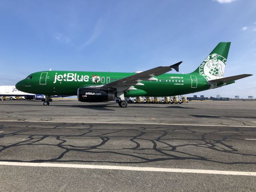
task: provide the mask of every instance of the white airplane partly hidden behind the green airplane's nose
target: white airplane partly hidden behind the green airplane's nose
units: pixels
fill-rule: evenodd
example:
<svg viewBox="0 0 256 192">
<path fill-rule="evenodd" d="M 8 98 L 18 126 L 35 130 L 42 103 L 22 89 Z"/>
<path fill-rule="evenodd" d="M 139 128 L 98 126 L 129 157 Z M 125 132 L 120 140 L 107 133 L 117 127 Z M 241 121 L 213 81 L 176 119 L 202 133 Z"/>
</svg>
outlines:
<svg viewBox="0 0 256 192">
<path fill-rule="evenodd" d="M 44 100 L 44 95 L 38 95 L 38 94 L 31 94 L 31 93 L 25 93 L 22 91 L 19 91 L 15 86 L 0 86 L 0 97 L 3 96 L 24 96 L 28 99 L 34 99 L 34 100 Z"/>
</svg>

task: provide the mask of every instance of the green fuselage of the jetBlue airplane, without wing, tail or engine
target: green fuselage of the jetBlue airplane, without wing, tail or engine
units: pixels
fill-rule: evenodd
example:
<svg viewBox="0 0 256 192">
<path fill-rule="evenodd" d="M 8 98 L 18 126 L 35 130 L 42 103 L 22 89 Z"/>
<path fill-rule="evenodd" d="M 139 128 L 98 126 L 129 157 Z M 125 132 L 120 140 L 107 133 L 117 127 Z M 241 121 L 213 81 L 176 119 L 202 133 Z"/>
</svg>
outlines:
<svg viewBox="0 0 256 192">
<path fill-rule="evenodd" d="M 76 95 L 78 88 L 100 86 L 134 74 L 136 73 L 42 71 L 31 74 L 16 86 L 33 94 Z M 134 86 L 136 90 L 124 92 L 124 96 L 173 96 L 208 90 L 211 87 L 201 75 L 162 74 L 154 77 L 158 80 L 141 81 L 144 85 Z"/>
</svg>

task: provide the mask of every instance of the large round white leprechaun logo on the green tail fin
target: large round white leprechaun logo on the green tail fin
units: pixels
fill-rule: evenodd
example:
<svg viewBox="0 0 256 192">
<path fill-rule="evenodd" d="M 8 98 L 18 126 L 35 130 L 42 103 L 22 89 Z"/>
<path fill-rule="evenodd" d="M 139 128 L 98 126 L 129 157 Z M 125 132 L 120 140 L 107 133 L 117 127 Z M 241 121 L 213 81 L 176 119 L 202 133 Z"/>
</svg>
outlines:
<svg viewBox="0 0 256 192">
<path fill-rule="evenodd" d="M 226 58 L 214 53 L 209 55 L 200 65 L 200 74 L 206 79 L 215 79 L 224 75 Z"/>
</svg>

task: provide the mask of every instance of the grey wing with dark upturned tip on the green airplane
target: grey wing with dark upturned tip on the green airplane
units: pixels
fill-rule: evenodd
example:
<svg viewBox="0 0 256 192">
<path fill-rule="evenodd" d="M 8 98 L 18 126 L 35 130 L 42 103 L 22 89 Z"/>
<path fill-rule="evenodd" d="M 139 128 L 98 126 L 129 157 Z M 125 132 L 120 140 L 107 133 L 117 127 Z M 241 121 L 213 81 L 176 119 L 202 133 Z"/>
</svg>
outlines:
<svg viewBox="0 0 256 192">
<path fill-rule="evenodd" d="M 133 86 L 135 85 L 144 85 L 140 83 L 141 81 L 154 81 L 157 80 L 157 78 L 154 78 L 154 76 L 162 75 L 166 72 L 169 72 L 172 70 L 179 71 L 179 65 L 182 63 L 178 62 L 176 64 L 173 64 L 171 66 L 160 66 L 156 68 L 152 68 L 150 70 L 146 70 L 125 78 L 122 78 L 120 80 L 116 80 L 107 84 L 104 84 L 102 86 L 90 86 L 95 88 L 117 88 L 117 87 L 124 87 L 123 90 L 132 90 L 135 89 Z"/>
</svg>

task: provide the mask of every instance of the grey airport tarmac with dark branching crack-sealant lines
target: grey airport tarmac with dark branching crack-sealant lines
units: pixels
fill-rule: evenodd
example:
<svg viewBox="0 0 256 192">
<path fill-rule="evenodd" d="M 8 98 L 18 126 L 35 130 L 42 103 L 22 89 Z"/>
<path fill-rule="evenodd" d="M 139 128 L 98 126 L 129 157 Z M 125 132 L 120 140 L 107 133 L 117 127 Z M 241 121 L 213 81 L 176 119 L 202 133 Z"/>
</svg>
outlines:
<svg viewBox="0 0 256 192">
<path fill-rule="evenodd" d="M 256 191 L 256 102 L 0 109 L 0 191 Z"/>
</svg>

